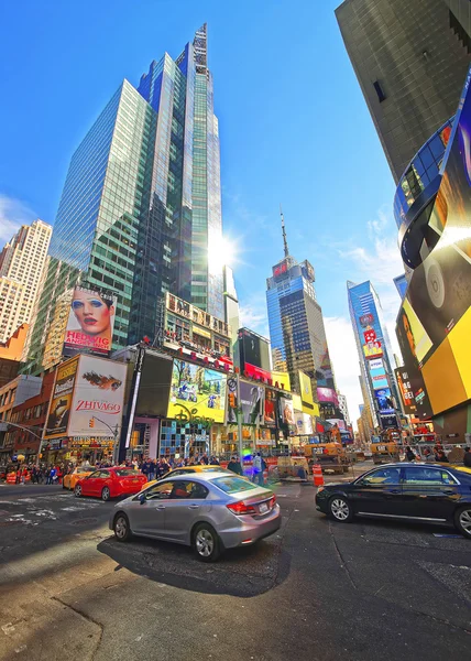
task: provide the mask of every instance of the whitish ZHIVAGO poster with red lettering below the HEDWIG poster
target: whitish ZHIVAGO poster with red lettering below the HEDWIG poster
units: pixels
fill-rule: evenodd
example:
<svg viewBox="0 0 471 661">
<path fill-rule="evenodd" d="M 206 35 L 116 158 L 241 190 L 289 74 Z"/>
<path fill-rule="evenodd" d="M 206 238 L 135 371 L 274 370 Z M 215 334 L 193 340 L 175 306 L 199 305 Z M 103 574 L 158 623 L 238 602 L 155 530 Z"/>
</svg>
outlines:
<svg viewBox="0 0 471 661">
<path fill-rule="evenodd" d="M 124 362 L 78 357 L 68 436 L 110 437 L 121 427 L 125 373 Z"/>
</svg>

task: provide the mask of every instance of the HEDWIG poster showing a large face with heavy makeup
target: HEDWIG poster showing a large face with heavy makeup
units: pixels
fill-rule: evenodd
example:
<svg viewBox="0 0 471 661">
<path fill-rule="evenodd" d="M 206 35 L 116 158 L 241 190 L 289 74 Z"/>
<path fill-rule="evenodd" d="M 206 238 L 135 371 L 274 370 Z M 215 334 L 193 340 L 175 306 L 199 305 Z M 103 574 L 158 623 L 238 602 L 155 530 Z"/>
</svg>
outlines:
<svg viewBox="0 0 471 661">
<path fill-rule="evenodd" d="M 109 356 L 114 327 L 117 299 L 76 286 L 64 338 L 64 355 Z"/>
</svg>

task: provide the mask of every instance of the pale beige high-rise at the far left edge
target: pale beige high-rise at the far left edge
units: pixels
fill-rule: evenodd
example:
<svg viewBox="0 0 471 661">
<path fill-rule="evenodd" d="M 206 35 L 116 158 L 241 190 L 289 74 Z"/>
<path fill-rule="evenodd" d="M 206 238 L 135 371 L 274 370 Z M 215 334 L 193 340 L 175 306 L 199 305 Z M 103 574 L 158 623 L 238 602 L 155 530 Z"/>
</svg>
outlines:
<svg viewBox="0 0 471 661">
<path fill-rule="evenodd" d="M 52 227 L 22 225 L 0 253 L 0 343 L 31 321 L 47 261 Z"/>
</svg>

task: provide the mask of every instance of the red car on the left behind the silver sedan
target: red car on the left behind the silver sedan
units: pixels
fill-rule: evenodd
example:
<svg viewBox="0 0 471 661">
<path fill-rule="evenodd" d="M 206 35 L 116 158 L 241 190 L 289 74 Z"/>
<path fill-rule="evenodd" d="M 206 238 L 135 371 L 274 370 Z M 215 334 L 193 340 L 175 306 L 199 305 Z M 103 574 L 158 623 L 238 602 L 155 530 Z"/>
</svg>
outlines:
<svg viewBox="0 0 471 661">
<path fill-rule="evenodd" d="M 145 485 L 147 478 L 142 473 L 133 468 L 100 468 L 95 470 L 88 477 L 77 481 L 74 494 L 77 498 L 81 496 L 96 496 L 101 500 L 118 498 L 119 496 L 129 496 L 138 494 Z"/>
</svg>

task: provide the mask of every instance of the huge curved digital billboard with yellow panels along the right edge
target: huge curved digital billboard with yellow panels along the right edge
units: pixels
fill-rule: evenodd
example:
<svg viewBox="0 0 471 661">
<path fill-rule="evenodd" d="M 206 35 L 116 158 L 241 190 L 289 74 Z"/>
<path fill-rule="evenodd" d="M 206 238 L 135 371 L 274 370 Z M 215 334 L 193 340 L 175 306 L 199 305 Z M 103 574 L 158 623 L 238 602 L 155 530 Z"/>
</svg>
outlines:
<svg viewBox="0 0 471 661">
<path fill-rule="evenodd" d="M 438 240 L 435 247 L 430 245 L 431 251 L 414 270 L 397 317 L 397 338 L 420 418 L 425 413 L 438 415 L 471 399 L 469 82 L 470 75 L 442 161 L 442 178 L 427 227 L 428 240 L 432 236 Z M 428 407 L 420 403 L 427 399 L 425 389 Z"/>
</svg>

